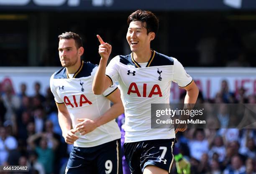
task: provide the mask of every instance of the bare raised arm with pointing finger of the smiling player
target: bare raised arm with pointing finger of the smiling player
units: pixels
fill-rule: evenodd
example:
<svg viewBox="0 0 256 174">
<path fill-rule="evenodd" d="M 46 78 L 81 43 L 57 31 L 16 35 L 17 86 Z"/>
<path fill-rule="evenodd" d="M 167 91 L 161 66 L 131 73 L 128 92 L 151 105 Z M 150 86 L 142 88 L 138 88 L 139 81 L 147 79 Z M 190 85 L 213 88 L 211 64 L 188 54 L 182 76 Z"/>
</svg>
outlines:
<svg viewBox="0 0 256 174">
<path fill-rule="evenodd" d="M 112 85 L 110 78 L 105 76 L 108 58 L 110 56 L 112 47 L 110 44 L 105 43 L 100 37 L 100 35 L 97 35 L 97 38 L 100 41 L 99 54 L 101 58 L 100 58 L 99 68 L 97 68 L 97 72 L 95 74 L 95 77 L 92 83 L 92 91 L 94 94 L 100 95 L 108 87 Z"/>
</svg>

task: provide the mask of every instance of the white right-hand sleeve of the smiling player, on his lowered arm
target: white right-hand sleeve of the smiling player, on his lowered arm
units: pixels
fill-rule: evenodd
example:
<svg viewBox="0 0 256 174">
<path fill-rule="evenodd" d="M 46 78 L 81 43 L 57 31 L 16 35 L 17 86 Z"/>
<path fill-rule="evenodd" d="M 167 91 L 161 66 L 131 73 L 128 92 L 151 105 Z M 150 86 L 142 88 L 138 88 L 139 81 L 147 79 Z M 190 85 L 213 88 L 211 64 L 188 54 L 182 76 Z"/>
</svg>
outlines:
<svg viewBox="0 0 256 174">
<path fill-rule="evenodd" d="M 184 70 L 184 67 L 182 64 L 176 59 L 174 60 L 174 74 L 173 74 L 173 80 L 175 83 L 178 83 L 179 87 L 186 87 L 192 82 L 192 77 L 187 74 L 187 72 Z"/>
</svg>

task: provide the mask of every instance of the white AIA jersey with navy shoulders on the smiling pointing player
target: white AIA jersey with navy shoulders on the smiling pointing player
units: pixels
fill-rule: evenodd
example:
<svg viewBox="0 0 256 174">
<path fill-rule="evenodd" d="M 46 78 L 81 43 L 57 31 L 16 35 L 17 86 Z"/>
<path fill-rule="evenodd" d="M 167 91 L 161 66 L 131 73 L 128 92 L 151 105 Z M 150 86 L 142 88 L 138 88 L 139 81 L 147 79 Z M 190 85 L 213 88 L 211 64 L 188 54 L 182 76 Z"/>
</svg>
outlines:
<svg viewBox="0 0 256 174">
<path fill-rule="evenodd" d="M 151 103 L 169 103 L 172 81 L 181 87 L 192 82 L 176 58 L 152 50 L 146 67 L 141 67 L 132 53 L 118 55 L 108 64 L 106 76 L 120 84 L 126 143 L 175 138 L 174 129 L 151 129 Z"/>
</svg>

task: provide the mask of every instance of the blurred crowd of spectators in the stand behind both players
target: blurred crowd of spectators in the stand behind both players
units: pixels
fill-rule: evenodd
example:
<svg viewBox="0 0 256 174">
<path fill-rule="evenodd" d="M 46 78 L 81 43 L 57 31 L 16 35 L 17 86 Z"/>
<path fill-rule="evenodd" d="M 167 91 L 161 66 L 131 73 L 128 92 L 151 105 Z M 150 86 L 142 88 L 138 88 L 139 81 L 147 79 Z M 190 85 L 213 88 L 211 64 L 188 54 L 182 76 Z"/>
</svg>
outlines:
<svg viewBox="0 0 256 174">
<path fill-rule="evenodd" d="M 20 93 L 11 84 L 2 86 L 0 165 L 27 165 L 30 174 L 64 174 L 72 146 L 61 135 L 50 88 L 46 95 L 40 88 L 35 83 L 34 96 L 28 96 L 26 83 Z M 180 98 L 183 102 L 184 95 Z M 224 80 L 215 98 L 200 93 L 197 102 L 256 104 L 256 95 L 246 95 L 243 88 L 234 93 Z M 227 111 L 219 114 L 218 122 L 228 124 Z M 256 129 L 188 129 L 177 134 L 175 147 L 191 163 L 192 174 L 256 174 Z M 177 173 L 176 167 L 172 173 Z"/>
</svg>

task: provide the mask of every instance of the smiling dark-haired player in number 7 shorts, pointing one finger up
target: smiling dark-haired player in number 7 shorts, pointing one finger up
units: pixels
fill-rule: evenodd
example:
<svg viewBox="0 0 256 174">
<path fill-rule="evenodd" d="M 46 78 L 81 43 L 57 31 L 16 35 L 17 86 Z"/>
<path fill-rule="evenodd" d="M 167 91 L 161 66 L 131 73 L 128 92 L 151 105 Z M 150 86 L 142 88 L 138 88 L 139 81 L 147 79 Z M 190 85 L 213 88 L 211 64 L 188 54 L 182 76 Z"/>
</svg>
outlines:
<svg viewBox="0 0 256 174">
<path fill-rule="evenodd" d="M 186 128 L 151 129 L 151 103 L 169 103 L 172 81 L 187 91 L 184 103 L 195 103 L 198 88 L 176 58 L 151 50 L 158 19 L 137 10 L 128 17 L 126 39 L 132 53 L 118 55 L 106 68 L 111 45 L 97 35 L 101 56 L 93 92 L 101 94 L 116 81 L 125 107 L 125 157 L 132 174 L 167 174 L 173 163 L 175 132 Z"/>
</svg>

